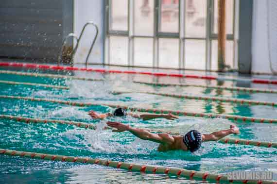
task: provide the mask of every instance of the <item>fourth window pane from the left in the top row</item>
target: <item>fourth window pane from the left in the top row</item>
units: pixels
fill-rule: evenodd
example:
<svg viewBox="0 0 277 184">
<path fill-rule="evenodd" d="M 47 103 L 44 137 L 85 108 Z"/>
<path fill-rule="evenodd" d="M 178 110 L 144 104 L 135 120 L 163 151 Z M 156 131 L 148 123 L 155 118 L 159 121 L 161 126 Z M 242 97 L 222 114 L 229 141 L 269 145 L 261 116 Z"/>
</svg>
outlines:
<svg viewBox="0 0 277 184">
<path fill-rule="evenodd" d="M 207 0 L 186 0 L 185 36 L 206 37 Z"/>
</svg>

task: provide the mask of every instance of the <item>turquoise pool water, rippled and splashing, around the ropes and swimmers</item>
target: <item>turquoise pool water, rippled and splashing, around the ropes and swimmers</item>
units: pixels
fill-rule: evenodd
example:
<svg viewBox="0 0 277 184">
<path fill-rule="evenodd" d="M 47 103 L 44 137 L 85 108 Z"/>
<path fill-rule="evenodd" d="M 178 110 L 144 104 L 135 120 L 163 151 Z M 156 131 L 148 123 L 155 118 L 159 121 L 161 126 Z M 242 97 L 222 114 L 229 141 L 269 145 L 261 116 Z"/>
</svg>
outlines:
<svg viewBox="0 0 277 184">
<path fill-rule="evenodd" d="M 1 68 L 7 69 L 7 68 Z M 11 68 L 8 68 L 11 69 Z M 23 71 L 23 70 L 22 70 Z M 26 70 L 25 70 L 26 71 Z M 27 70 L 28 72 L 54 73 L 56 71 Z M 60 72 L 61 73 L 61 72 Z M 244 92 L 219 91 L 199 87 L 154 87 L 134 84 L 131 81 L 159 81 L 164 83 L 207 84 L 211 81 L 177 78 L 155 78 L 142 75 L 74 72 L 61 74 L 75 75 L 105 82 L 85 82 L 78 80 L 23 77 L 0 74 L 0 80 L 32 82 L 41 84 L 67 85 L 69 90 L 59 90 L 27 85 L 0 84 L 0 95 L 27 96 L 83 102 L 105 102 L 140 106 L 144 108 L 164 108 L 187 110 L 190 112 L 225 113 L 241 116 L 277 118 L 277 108 L 260 105 L 241 105 L 218 103 L 202 100 L 182 100 L 139 93 L 113 95 L 113 90 L 143 90 L 174 94 L 193 94 L 218 97 L 232 97 L 251 100 L 277 101 L 277 94 L 249 94 Z M 216 84 L 215 81 L 211 82 Z M 226 81 L 221 85 L 240 86 L 236 82 Z M 253 87 L 273 88 L 274 86 L 257 85 Z M 75 107 L 50 102 L 0 99 L 0 114 L 83 121 L 104 126 L 105 120 L 93 120 L 89 110 L 112 112 L 105 106 Z M 237 124 L 241 134 L 230 137 L 277 142 L 277 125 L 232 122 L 226 119 L 180 117 L 176 120 L 156 119 L 142 121 L 133 117 L 110 117 L 108 120 L 121 121 L 132 126 L 159 128 L 172 132 L 186 133 L 198 129 L 202 133 L 211 133 L 226 129 L 230 124 Z M 156 151 L 157 144 L 143 141 L 128 132 L 112 133 L 103 130 L 84 130 L 70 125 L 25 124 L 13 120 L 0 119 L 0 148 L 17 151 L 43 152 L 91 158 L 111 159 L 138 164 L 164 167 L 180 167 L 190 170 L 226 173 L 234 170 L 266 169 L 277 172 L 277 149 L 257 148 L 243 145 L 224 145 L 217 142 L 204 143 L 194 154 L 183 151 Z M 0 155 L 0 183 L 202 183 L 167 175 L 132 173 L 121 169 L 85 164 L 42 161 L 20 157 Z M 277 178 L 275 178 L 277 180 Z"/>
</svg>

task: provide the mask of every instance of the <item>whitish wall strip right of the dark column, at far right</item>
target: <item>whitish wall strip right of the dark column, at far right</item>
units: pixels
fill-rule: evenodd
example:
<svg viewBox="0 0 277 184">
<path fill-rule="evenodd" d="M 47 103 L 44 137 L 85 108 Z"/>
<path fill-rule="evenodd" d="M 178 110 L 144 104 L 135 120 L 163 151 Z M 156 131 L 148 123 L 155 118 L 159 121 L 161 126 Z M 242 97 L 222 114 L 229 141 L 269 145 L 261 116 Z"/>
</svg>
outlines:
<svg viewBox="0 0 277 184">
<path fill-rule="evenodd" d="M 267 11 L 267 0 L 253 1 L 252 72 L 271 73 L 268 52 Z"/>
</svg>

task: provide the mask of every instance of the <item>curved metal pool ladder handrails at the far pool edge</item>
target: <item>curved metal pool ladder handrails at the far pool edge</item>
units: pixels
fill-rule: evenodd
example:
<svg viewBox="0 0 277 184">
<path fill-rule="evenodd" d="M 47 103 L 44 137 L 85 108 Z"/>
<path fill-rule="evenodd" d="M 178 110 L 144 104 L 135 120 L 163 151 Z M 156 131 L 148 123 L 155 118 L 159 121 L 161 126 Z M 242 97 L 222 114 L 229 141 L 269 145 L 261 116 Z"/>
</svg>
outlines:
<svg viewBox="0 0 277 184">
<path fill-rule="evenodd" d="M 73 58 L 74 58 L 74 55 L 75 55 L 75 53 L 76 53 L 76 51 L 77 51 L 77 49 L 78 49 L 78 47 L 79 47 L 79 42 L 80 42 L 80 40 L 81 40 L 81 38 L 82 38 L 82 36 L 83 36 L 83 33 L 84 33 L 84 31 L 85 31 L 87 25 L 92 25 L 92 26 L 94 26 L 94 27 L 95 27 L 95 30 L 96 30 L 96 34 L 95 34 L 95 36 L 94 36 L 93 42 L 92 42 L 92 44 L 91 44 L 91 46 L 90 46 L 90 48 L 89 48 L 89 51 L 88 51 L 88 53 L 87 53 L 87 58 L 86 58 L 86 68 L 87 68 L 87 62 L 88 62 L 89 55 L 90 55 L 90 53 L 91 53 L 91 50 L 92 50 L 92 48 L 93 48 L 93 46 L 94 46 L 94 44 L 95 44 L 96 38 L 97 38 L 97 36 L 98 36 L 98 26 L 97 26 L 94 22 L 91 22 L 91 21 L 90 21 L 90 22 L 87 22 L 87 23 L 84 25 L 84 27 L 83 27 L 83 29 L 82 29 L 82 31 L 81 31 L 81 34 L 80 34 L 80 36 L 79 36 L 79 38 L 78 38 L 78 36 L 77 36 L 75 33 L 69 33 L 69 34 L 65 37 L 65 39 L 63 40 L 62 48 L 61 48 L 61 50 L 60 50 L 60 52 L 59 52 L 59 55 L 58 55 L 58 66 L 59 66 L 60 63 L 61 63 L 62 55 L 63 55 L 63 48 L 65 47 L 68 38 L 69 38 L 69 37 L 73 37 L 73 38 L 75 38 L 75 39 L 77 40 L 76 46 L 73 48 L 72 53 L 71 53 L 71 58 L 70 58 L 70 66 L 73 67 L 73 64 L 74 64 Z"/>
</svg>

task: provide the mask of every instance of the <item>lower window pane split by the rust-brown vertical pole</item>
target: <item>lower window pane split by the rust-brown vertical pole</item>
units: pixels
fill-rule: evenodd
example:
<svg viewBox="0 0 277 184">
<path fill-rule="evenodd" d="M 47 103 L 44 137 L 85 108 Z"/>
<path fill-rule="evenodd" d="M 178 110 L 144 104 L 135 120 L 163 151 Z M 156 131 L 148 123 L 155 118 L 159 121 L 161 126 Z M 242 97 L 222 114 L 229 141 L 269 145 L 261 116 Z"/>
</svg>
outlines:
<svg viewBox="0 0 277 184">
<path fill-rule="evenodd" d="M 229 65 L 234 68 L 234 41 L 226 40 L 225 50 L 225 65 Z M 217 40 L 211 41 L 211 69 L 217 70 L 218 59 L 218 42 Z"/>
</svg>

